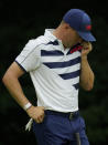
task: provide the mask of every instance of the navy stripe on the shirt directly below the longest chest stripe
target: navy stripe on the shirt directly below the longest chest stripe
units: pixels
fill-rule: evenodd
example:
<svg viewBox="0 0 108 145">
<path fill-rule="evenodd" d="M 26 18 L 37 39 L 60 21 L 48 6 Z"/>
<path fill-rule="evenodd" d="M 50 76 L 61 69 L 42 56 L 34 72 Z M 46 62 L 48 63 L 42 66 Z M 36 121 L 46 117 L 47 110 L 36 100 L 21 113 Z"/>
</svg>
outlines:
<svg viewBox="0 0 108 145">
<path fill-rule="evenodd" d="M 75 71 L 75 72 L 71 72 L 71 73 L 64 73 L 64 74 L 60 74 L 60 76 L 64 80 L 68 80 L 68 79 L 74 79 L 79 76 L 80 70 Z"/>
</svg>

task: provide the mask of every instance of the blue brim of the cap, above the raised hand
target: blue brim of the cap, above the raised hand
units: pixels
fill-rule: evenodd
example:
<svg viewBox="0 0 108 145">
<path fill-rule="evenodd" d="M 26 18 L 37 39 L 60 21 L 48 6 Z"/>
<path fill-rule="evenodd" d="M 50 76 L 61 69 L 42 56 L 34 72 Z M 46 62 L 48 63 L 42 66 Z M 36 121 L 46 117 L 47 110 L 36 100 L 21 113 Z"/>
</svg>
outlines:
<svg viewBox="0 0 108 145">
<path fill-rule="evenodd" d="M 96 41 L 95 37 L 90 32 L 80 32 L 80 31 L 77 32 L 80 35 L 80 38 L 84 39 L 85 41 L 89 42 Z"/>
</svg>

